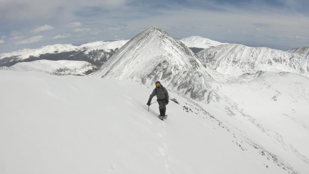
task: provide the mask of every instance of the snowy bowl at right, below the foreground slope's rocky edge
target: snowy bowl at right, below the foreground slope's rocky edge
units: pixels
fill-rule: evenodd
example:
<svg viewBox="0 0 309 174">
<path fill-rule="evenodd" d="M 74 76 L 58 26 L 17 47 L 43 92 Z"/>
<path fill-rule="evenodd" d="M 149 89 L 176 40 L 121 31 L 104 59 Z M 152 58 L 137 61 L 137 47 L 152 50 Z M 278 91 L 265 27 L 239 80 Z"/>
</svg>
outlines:
<svg viewBox="0 0 309 174">
<path fill-rule="evenodd" d="M 222 109 L 214 116 L 254 140 L 250 144 L 258 143 L 262 155 L 274 162 L 284 159 L 296 173 L 309 171 L 307 77 L 289 72 L 244 74 L 222 83 L 217 94 L 221 99 L 211 106 L 202 104 L 205 110 L 214 115 Z"/>
</svg>

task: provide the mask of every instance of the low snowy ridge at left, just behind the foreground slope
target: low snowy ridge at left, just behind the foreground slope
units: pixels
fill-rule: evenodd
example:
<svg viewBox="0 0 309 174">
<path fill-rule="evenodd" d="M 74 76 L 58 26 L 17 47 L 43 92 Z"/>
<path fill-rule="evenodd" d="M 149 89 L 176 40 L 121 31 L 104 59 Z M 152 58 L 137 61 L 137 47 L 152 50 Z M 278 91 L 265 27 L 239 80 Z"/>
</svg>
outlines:
<svg viewBox="0 0 309 174">
<path fill-rule="evenodd" d="M 0 70 L 36 71 L 53 75 L 83 76 L 95 72 L 98 68 L 89 62 L 73 60 L 35 60 L 19 62 L 11 67 L 0 67 Z"/>
</svg>

